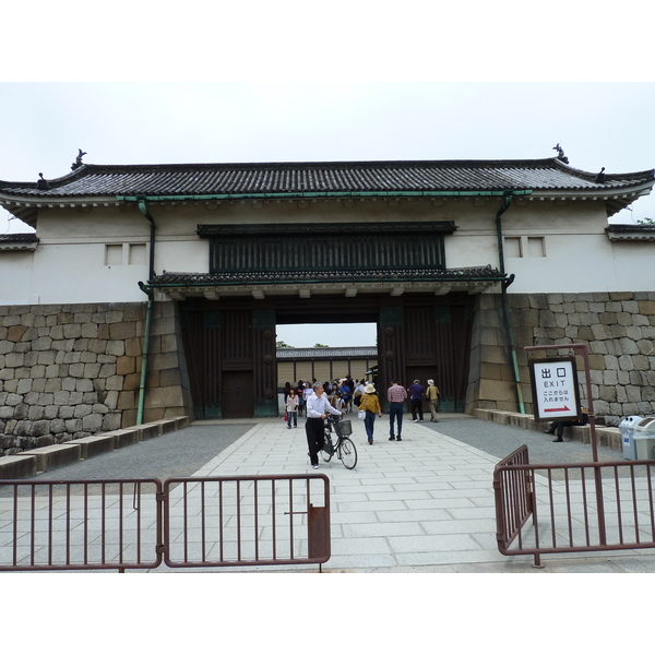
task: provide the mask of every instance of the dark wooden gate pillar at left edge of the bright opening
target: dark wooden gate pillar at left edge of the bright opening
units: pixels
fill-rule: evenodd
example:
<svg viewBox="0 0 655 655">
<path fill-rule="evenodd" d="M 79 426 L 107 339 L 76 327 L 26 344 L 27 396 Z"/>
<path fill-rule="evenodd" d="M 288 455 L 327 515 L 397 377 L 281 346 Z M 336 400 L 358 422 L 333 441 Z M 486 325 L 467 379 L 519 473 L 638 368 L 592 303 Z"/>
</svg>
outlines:
<svg viewBox="0 0 655 655">
<path fill-rule="evenodd" d="M 253 309 L 254 418 L 277 416 L 275 310 Z"/>
</svg>

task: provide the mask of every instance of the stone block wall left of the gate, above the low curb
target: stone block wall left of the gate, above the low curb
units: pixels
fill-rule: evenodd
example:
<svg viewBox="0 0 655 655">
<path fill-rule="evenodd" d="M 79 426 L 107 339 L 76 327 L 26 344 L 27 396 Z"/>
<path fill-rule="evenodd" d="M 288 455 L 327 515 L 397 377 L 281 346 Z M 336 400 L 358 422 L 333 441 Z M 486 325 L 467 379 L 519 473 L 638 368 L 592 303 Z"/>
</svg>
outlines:
<svg viewBox="0 0 655 655">
<path fill-rule="evenodd" d="M 135 425 L 146 305 L 0 307 L 0 455 Z M 155 303 L 144 421 L 187 414 L 175 305 Z"/>
</svg>

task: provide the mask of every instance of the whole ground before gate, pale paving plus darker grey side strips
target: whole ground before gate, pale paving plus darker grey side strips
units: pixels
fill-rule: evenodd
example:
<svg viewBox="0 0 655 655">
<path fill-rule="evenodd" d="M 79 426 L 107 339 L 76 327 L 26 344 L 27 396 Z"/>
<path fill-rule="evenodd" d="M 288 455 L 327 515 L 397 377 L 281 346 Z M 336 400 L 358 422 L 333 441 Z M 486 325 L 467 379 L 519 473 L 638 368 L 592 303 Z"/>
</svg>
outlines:
<svg viewBox="0 0 655 655">
<path fill-rule="evenodd" d="M 132 460 L 131 475 L 150 477 L 156 471 L 163 480 L 176 475 L 326 475 L 331 486 L 332 557 L 323 564 L 324 572 L 655 572 L 653 550 L 544 556 L 543 569 L 533 567 L 531 556 L 505 557 L 498 551 L 492 489 L 498 455 L 509 454 L 523 442 L 535 446 L 539 463 L 556 463 L 575 456 L 562 449 L 588 446 L 552 444 L 540 433 L 462 415 L 442 415 L 439 424 L 414 424 L 406 417 L 402 442 L 388 440 L 384 417 L 377 420 L 376 443 L 368 445 L 362 422 L 353 415 L 348 418 L 359 455 L 353 471 L 336 457 L 330 463 L 320 460 L 318 472 L 311 468 L 303 419 L 291 430 L 282 419 L 250 425 L 196 421 L 174 436 L 158 438 L 160 442 L 153 439 L 147 445 L 122 449 L 121 456 Z M 214 443 L 216 439 L 223 444 Z M 188 462 L 181 463 L 175 448 L 195 452 L 192 456 L 188 453 Z M 163 454 L 157 454 L 162 449 Z M 591 458 L 579 454 L 577 461 Z M 621 453 L 604 452 L 602 458 L 622 457 Z M 193 462 L 198 464 L 190 468 Z M 75 475 L 70 471 L 72 466 L 58 469 L 59 475 L 52 473 L 59 479 L 123 477 L 126 473 L 118 466 L 116 453 L 75 464 Z M 48 477 L 52 476 L 44 475 L 41 479 Z M 317 570 L 315 564 L 211 569 L 160 565 L 147 572 Z"/>
</svg>

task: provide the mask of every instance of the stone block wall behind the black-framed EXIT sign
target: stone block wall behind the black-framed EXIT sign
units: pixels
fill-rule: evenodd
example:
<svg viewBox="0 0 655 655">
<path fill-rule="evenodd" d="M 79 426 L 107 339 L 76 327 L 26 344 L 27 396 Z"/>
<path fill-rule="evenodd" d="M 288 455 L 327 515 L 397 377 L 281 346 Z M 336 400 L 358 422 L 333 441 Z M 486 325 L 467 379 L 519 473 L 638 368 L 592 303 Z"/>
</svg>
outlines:
<svg viewBox="0 0 655 655">
<path fill-rule="evenodd" d="M 596 417 L 607 426 L 616 426 L 626 416 L 655 415 L 655 291 L 509 294 L 508 305 L 526 412 L 533 409 L 524 346 L 584 343 L 590 352 Z M 477 309 L 467 410 L 516 412 L 502 297 L 483 295 Z M 545 350 L 544 356 L 555 354 Z M 586 378 L 581 362 L 579 377 L 584 397 Z"/>
</svg>

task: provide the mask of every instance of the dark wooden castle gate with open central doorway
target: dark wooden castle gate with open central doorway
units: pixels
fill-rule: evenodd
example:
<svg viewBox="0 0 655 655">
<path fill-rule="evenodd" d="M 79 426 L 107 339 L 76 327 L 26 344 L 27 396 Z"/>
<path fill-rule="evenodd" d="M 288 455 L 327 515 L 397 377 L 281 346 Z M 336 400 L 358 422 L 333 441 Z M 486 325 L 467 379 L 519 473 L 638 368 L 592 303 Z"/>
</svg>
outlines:
<svg viewBox="0 0 655 655">
<path fill-rule="evenodd" d="M 468 380 L 473 297 L 277 297 L 261 302 L 180 303 L 196 419 L 277 416 L 275 326 L 281 323 L 377 323 L 381 400 L 392 379 L 433 378 L 441 412 L 463 412 Z"/>
</svg>

